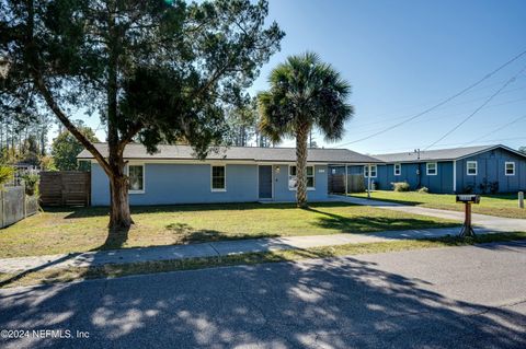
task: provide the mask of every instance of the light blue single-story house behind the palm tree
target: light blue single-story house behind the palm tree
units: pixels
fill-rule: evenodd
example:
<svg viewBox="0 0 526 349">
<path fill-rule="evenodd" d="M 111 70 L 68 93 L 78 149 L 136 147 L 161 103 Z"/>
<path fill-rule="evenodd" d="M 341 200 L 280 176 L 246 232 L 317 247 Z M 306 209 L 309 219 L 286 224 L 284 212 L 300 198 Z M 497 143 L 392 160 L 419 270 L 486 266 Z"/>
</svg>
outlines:
<svg viewBox="0 0 526 349">
<path fill-rule="evenodd" d="M 107 144 L 96 149 L 107 156 Z M 83 150 L 79 161 L 91 163 L 91 203 L 110 205 L 108 179 L 92 154 Z M 219 148 L 198 160 L 188 146 L 159 146 L 149 154 L 141 144 L 124 151 L 129 176 L 130 205 L 294 201 L 296 199 L 295 148 Z M 379 160 L 346 149 L 309 149 L 307 197 L 329 198 L 331 166 L 364 166 Z"/>
</svg>

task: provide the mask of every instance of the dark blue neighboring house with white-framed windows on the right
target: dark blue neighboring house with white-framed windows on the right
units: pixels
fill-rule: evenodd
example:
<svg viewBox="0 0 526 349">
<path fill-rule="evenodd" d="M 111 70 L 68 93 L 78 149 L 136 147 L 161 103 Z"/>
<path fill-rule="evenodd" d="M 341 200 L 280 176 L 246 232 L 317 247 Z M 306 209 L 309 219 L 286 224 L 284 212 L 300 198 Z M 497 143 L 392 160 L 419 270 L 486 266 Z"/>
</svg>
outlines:
<svg viewBox="0 0 526 349">
<path fill-rule="evenodd" d="M 382 161 L 370 171 L 377 189 L 389 190 L 395 182 L 407 182 L 412 190 L 427 187 L 441 194 L 526 189 L 526 155 L 502 144 L 373 156 Z M 348 171 L 363 173 L 367 181 L 366 166 Z"/>
</svg>

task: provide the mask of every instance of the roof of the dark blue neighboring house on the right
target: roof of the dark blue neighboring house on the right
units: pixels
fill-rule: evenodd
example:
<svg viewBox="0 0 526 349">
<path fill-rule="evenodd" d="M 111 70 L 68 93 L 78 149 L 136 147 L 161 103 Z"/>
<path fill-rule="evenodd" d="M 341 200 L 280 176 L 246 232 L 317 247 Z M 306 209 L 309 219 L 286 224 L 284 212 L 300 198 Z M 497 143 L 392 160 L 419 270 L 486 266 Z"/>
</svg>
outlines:
<svg viewBox="0 0 526 349">
<path fill-rule="evenodd" d="M 511 148 L 496 144 L 496 146 L 478 146 L 478 147 L 465 147 L 465 148 L 453 148 L 453 149 L 426 150 L 426 151 L 420 152 L 420 159 L 418 158 L 418 153 L 414 151 L 405 152 L 405 153 L 378 154 L 373 156 L 387 163 L 457 160 L 457 159 L 466 158 L 476 153 L 489 151 L 495 148 L 503 148 L 505 150 L 517 153 L 515 150 Z"/>
</svg>

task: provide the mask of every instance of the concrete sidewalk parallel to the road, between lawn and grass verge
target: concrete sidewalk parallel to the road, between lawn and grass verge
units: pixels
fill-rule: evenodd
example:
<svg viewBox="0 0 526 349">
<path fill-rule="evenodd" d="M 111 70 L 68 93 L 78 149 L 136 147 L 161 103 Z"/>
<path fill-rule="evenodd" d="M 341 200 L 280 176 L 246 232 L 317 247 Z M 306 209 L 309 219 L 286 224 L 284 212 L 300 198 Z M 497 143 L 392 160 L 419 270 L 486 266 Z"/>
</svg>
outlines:
<svg viewBox="0 0 526 349">
<path fill-rule="evenodd" d="M 477 230 L 477 233 L 491 233 Z M 199 257 L 221 257 L 232 254 L 301 249 L 345 244 L 390 242 L 404 239 L 426 239 L 456 235 L 459 228 L 427 230 L 387 231 L 364 234 L 332 234 L 311 236 L 289 236 L 276 239 L 253 239 L 221 241 L 192 245 L 123 248 L 114 251 L 85 252 L 78 254 L 47 255 L 0 259 L 0 272 L 27 272 L 70 267 L 96 267 L 106 264 L 187 259 Z"/>
</svg>

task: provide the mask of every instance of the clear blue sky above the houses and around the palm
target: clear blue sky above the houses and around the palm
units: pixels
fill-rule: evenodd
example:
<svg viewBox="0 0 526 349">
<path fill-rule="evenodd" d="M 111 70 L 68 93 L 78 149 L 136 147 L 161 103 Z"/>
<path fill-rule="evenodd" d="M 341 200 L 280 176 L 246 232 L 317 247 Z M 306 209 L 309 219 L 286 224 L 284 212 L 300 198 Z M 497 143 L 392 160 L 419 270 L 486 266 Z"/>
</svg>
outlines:
<svg viewBox="0 0 526 349">
<path fill-rule="evenodd" d="M 306 50 L 318 53 L 353 88 L 348 102 L 355 115 L 343 139 L 325 142 L 315 132 L 321 147 L 369 154 L 426 149 L 477 109 L 431 149 L 526 146 L 526 55 L 432 113 L 368 138 L 525 51 L 524 0 L 271 0 L 268 20 L 286 36 L 251 93 L 268 88 L 268 73 L 277 63 Z M 88 124 L 96 128 L 99 121 Z M 98 135 L 104 139 L 101 130 Z M 294 140 L 281 146 L 294 146 Z"/>
</svg>

